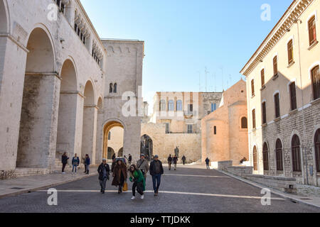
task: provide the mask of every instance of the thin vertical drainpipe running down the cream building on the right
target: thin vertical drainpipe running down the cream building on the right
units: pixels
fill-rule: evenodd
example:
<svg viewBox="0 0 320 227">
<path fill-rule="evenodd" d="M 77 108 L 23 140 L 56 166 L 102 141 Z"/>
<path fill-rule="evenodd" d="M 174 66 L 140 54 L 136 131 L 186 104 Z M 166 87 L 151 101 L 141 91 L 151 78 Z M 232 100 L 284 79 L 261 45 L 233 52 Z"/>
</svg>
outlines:
<svg viewBox="0 0 320 227">
<path fill-rule="evenodd" d="M 296 19 L 294 21 L 294 23 L 297 23 L 297 29 L 298 29 L 298 48 L 299 48 L 299 73 L 300 73 L 300 85 L 301 85 L 301 100 L 302 100 L 302 124 L 303 124 L 303 128 L 304 128 L 304 134 L 306 135 L 306 124 L 304 121 L 304 96 L 303 96 L 303 92 L 302 92 L 302 69 L 301 69 L 301 50 L 300 50 L 300 33 L 299 33 L 299 23 L 302 23 L 302 20 L 300 19 Z M 303 138 L 302 138 L 302 141 Z M 306 157 L 306 150 L 304 149 L 304 143 L 302 143 L 302 154 L 304 154 L 304 160 L 306 162 L 306 179 L 304 179 L 304 184 L 308 184 L 309 185 L 309 174 L 308 174 L 308 160 Z M 302 162 L 303 163 L 303 162 Z"/>
</svg>

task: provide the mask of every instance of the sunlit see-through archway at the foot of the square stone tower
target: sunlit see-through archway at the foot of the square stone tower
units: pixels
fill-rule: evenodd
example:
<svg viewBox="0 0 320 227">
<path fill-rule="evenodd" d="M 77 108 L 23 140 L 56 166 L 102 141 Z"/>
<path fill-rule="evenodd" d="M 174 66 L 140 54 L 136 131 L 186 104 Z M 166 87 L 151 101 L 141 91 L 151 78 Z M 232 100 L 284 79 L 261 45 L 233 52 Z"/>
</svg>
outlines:
<svg viewBox="0 0 320 227">
<path fill-rule="evenodd" d="M 112 160 L 112 155 L 123 157 L 124 151 L 124 126 L 119 121 L 110 121 L 105 125 L 103 130 L 103 155 L 102 157 Z M 110 153 L 110 148 L 113 153 Z M 117 153 L 116 153 L 117 152 Z"/>
</svg>

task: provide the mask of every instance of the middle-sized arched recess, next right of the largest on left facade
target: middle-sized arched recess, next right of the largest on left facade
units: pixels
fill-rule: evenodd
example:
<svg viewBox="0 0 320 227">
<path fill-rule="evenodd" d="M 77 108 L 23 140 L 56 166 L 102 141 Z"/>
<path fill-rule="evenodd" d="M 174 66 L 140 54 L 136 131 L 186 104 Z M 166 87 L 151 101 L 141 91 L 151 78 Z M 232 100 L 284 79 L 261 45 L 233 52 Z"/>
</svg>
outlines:
<svg viewBox="0 0 320 227">
<path fill-rule="evenodd" d="M 61 70 L 56 159 L 63 153 L 75 153 L 75 128 L 77 115 L 77 75 L 71 60 L 63 63 Z"/>
</svg>

